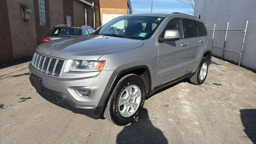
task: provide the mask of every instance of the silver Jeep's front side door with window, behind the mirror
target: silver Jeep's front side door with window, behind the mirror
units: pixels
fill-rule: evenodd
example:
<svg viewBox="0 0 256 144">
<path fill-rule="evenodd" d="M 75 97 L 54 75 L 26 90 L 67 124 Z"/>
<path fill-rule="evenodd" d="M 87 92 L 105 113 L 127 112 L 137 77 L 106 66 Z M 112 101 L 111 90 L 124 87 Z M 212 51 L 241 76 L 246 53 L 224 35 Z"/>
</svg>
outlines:
<svg viewBox="0 0 256 144">
<path fill-rule="evenodd" d="M 188 40 L 184 39 L 181 18 L 171 19 L 162 31 L 160 38 L 164 38 L 165 30 L 178 30 L 180 32 L 180 39 L 158 43 L 159 56 L 156 86 L 160 86 L 186 74 Z"/>
</svg>

